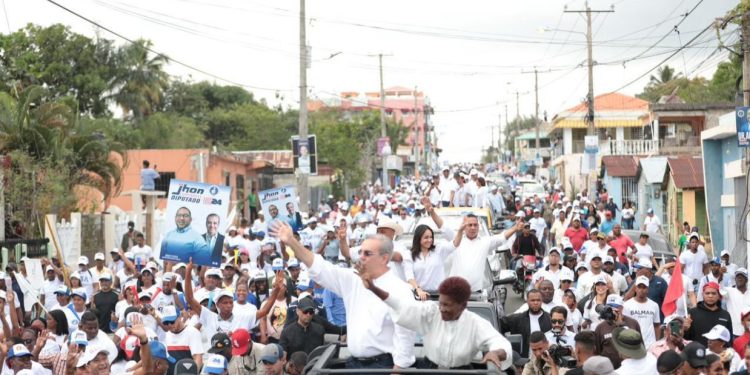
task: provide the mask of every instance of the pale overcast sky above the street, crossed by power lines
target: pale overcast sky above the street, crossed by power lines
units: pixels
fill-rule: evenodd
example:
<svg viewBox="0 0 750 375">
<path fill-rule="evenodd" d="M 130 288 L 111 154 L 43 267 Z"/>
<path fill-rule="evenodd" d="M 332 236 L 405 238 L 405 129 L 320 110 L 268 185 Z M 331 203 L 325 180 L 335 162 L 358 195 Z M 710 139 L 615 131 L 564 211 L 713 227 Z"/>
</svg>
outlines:
<svg viewBox="0 0 750 375">
<path fill-rule="evenodd" d="M 269 104 L 299 106 L 299 0 L 55 0 L 131 39 L 145 38 L 173 59 L 167 71 L 186 80 L 241 85 Z M 0 32 L 28 23 L 62 23 L 75 32 L 128 43 L 47 0 L 0 0 Z M 737 0 L 592 0 L 594 94 L 635 95 L 649 70 L 667 64 L 710 78 L 727 59 L 715 30 L 701 33 Z M 587 92 L 582 0 L 306 2 L 312 52 L 308 95 L 377 91 L 377 54 L 386 87 L 417 87 L 435 109 L 442 160 L 478 161 L 498 124 L 578 104 Z M 5 21 L 5 22 L 3 22 Z M 4 25 L 3 25 L 4 24 Z M 696 38 L 697 37 L 697 38 Z M 680 46 L 688 48 L 678 51 Z M 721 31 L 725 43 L 735 27 Z"/>
</svg>

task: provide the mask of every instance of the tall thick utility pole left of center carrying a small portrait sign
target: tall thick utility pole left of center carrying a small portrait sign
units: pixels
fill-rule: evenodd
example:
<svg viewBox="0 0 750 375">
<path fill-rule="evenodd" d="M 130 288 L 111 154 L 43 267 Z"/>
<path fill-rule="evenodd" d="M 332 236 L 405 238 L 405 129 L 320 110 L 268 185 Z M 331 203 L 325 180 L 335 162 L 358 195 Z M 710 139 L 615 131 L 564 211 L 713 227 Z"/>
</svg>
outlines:
<svg viewBox="0 0 750 375">
<path fill-rule="evenodd" d="M 305 0 L 299 0 L 299 140 L 307 141 L 307 36 L 305 35 Z M 295 152 L 295 150 L 292 150 Z M 307 173 L 297 169 L 299 209 L 309 212 Z"/>
</svg>

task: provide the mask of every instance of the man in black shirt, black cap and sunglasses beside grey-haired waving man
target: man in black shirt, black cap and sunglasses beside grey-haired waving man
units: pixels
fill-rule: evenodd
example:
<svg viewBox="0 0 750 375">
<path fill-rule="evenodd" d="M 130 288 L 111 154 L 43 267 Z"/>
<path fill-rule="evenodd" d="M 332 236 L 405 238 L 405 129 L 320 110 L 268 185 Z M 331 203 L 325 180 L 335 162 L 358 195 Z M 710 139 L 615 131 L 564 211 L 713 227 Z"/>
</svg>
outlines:
<svg viewBox="0 0 750 375">
<path fill-rule="evenodd" d="M 279 344 L 287 353 L 302 351 L 310 354 L 313 349 L 323 345 L 325 329 L 313 321 L 313 315 L 315 302 L 309 297 L 300 299 L 297 303 L 297 321 L 284 327 L 279 338 Z"/>
</svg>

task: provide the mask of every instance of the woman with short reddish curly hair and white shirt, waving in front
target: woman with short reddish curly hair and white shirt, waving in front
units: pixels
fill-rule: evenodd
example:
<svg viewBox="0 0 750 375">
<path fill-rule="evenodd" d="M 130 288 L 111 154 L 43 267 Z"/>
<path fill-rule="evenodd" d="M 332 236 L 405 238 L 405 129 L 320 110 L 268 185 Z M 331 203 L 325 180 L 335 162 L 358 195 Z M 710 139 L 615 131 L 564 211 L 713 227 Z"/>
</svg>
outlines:
<svg viewBox="0 0 750 375">
<path fill-rule="evenodd" d="M 424 358 L 417 368 L 471 369 L 477 352 L 487 352 L 482 363 L 507 369 L 513 362 L 510 342 L 479 315 L 466 309 L 471 296 L 469 282 L 449 277 L 438 287 L 437 302 L 404 300 L 378 288 L 364 267 L 357 267 L 365 288 L 390 306 L 395 322 L 424 337 Z"/>
</svg>

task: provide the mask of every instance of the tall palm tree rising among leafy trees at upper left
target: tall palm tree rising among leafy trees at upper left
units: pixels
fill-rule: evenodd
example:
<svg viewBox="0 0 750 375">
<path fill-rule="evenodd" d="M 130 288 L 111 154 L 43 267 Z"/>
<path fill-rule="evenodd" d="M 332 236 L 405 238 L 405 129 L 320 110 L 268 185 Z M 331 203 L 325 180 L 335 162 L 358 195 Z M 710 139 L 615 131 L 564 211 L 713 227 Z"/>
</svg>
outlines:
<svg viewBox="0 0 750 375">
<path fill-rule="evenodd" d="M 109 99 L 122 109 L 126 117 L 140 119 L 153 113 L 169 87 L 169 74 L 164 71 L 169 58 L 164 55 L 150 57 L 151 45 L 150 41 L 138 40 L 118 51 L 118 66 L 122 68 L 109 84 Z"/>
</svg>

